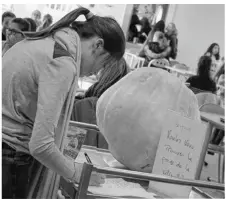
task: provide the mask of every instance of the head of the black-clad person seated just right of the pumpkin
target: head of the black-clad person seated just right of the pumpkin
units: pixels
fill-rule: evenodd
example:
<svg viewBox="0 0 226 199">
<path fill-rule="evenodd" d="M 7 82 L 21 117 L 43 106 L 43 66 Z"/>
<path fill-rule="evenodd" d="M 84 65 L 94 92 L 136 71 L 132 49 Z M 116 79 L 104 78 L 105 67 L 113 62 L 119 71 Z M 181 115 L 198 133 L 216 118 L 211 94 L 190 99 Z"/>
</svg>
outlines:
<svg viewBox="0 0 226 199">
<path fill-rule="evenodd" d="M 202 56 L 198 62 L 197 74 L 200 77 L 212 79 L 216 71 L 216 65 L 212 62 L 211 57 Z"/>
</svg>

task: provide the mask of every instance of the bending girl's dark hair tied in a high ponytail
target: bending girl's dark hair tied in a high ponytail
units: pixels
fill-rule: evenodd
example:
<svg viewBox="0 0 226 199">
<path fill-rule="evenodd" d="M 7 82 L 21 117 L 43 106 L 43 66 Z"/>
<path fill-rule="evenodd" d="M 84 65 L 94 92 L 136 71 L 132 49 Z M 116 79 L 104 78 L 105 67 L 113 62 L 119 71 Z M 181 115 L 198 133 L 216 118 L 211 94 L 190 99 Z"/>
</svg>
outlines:
<svg viewBox="0 0 226 199">
<path fill-rule="evenodd" d="M 84 15 L 87 21 L 75 21 L 80 15 Z M 88 9 L 83 7 L 71 11 L 52 26 L 40 32 L 26 34 L 26 36 L 40 39 L 48 37 L 65 27 L 74 29 L 81 38 L 88 39 L 93 36 L 102 38 L 105 50 L 117 60 L 124 55 L 125 36 L 116 20 L 110 17 L 92 15 Z"/>
</svg>

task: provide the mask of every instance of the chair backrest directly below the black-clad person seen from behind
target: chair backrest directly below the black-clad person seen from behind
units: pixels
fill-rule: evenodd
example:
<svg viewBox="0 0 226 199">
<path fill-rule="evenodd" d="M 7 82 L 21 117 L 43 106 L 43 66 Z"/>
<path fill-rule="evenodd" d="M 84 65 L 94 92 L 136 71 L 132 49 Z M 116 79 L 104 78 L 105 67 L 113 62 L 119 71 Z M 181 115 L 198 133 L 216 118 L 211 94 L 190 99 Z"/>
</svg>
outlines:
<svg viewBox="0 0 226 199">
<path fill-rule="evenodd" d="M 218 104 L 219 100 L 216 94 L 210 92 L 201 92 L 196 94 L 198 105 L 201 107 L 204 104 Z"/>
</svg>

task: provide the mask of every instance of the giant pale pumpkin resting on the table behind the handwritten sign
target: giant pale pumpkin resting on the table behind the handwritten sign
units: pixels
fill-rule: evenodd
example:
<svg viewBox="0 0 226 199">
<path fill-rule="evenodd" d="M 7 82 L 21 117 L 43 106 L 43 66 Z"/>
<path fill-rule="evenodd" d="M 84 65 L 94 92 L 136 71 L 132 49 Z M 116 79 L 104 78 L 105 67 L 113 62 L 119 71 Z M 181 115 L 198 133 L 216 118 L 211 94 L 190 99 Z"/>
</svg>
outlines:
<svg viewBox="0 0 226 199">
<path fill-rule="evenodd" d="M 97 124 L 112 155 L 131 170 L 152 172 L 167 110 L 200 120 L 193 92 L 158 68 L 139 68 L 97 102 Z"/>
</svg>

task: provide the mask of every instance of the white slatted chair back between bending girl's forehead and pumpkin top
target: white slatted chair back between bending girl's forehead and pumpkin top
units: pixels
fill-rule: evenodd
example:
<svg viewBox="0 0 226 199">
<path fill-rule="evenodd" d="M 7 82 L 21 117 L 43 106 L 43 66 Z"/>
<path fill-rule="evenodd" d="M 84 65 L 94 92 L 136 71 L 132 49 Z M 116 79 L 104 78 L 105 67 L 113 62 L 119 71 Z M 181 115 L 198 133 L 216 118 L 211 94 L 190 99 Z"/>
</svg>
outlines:
<svg viewBox="0 0 226 199">
<path fill-rule="evenodd" d="M 137 55 L 134 55 L 129 52 L 125 52 L 124 58 L 126 60 L 126 63 L 129 65 L 129 67 L 134 70 L 135 68 L 141 68 L 144 65 L 145 59 L 142 57 L 138 57 Z"/>
</svg>

